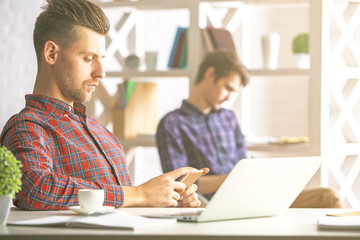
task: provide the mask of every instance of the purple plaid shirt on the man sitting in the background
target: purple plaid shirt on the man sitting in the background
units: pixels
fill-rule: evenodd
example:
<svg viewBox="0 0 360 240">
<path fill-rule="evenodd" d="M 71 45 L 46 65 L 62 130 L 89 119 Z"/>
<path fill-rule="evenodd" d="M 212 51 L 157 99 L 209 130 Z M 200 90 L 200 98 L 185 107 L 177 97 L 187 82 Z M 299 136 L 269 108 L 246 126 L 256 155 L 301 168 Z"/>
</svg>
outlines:
<svg viewBox="0 0 360 240">
<path fill-rule="evenodd" d="M 227 109 L 204 115 L 183 101 L 160 121 L 156 140 L 164 172 L 191 166 L 228 174 L 246 158 L 244 136 L 235 114 Z"/>
</svg>

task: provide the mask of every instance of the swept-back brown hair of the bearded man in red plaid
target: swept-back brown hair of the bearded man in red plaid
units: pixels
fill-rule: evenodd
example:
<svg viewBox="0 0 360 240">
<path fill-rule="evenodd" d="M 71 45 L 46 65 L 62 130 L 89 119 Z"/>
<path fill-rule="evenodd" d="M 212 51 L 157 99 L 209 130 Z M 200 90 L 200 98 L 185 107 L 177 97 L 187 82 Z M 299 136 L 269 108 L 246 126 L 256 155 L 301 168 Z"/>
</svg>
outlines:
<svg viewBox="0 0 360 240">
<path fill-rule="evenodd" d="M 52 40 L 61 47 L 69 47 L 77 40 L 77 28 L 87 27 L 106 35 L 110 23 L 96 4 L 87 0 L 47 0 L 34 28 L 34 47 L 38 63 L 45 42 Z"/>
</svg>

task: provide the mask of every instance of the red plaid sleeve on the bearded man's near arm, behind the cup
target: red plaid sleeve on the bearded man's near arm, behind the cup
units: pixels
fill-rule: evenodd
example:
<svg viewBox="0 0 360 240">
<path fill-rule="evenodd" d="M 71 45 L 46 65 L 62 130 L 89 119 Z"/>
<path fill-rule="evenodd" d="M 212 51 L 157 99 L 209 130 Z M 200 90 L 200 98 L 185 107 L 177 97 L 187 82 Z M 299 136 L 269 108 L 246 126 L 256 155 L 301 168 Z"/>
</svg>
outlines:
<svg viewBox="0 0 360 240">
<path fill-rule="evenodd" d="M 77 193 L 82 188 L 104 189 L 104 205 L 123 205 L 121 186 L 87 181 L 57 172 L 52 158 L 52 140 L 39 124 L 22 121 L 10 127 L 2 139 L 3 145 L 23 164 L 22 189 L 16 194 L 16 206 L 28 210 L 65 209 L 78 205 Z"/>
</svg>

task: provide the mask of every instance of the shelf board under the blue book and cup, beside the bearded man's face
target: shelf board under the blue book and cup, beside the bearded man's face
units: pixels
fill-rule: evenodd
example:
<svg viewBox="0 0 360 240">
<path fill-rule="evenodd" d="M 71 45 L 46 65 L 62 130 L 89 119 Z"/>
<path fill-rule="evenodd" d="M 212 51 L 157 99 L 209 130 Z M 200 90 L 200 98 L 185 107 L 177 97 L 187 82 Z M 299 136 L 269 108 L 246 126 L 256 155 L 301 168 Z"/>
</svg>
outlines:
<svg viewBox="0 0 360 240">
<path fill-rule="evenodd" d="M 173 69 L 168 71 L 108 71 L 106 77 L 121 77 L 121 78 L 135 78 L 135 77 L 175 77 L 175 78 L 189 78 L 190 73 L 187 69 Z"/>
</svg>

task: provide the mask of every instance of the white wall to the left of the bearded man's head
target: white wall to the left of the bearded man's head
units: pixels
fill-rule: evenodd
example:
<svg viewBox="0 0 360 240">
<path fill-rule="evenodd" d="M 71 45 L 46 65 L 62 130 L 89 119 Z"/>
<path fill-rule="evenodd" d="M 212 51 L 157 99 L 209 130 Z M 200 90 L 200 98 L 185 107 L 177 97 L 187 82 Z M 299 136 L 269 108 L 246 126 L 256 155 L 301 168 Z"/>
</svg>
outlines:
<svg viewBox="0 0 360 240">
<path fill-rule="evenodd" d="M 36 75 L 32 32 L 45 0 L 0 0 L 0 129 L 25 104 Z"/>
</svg>

